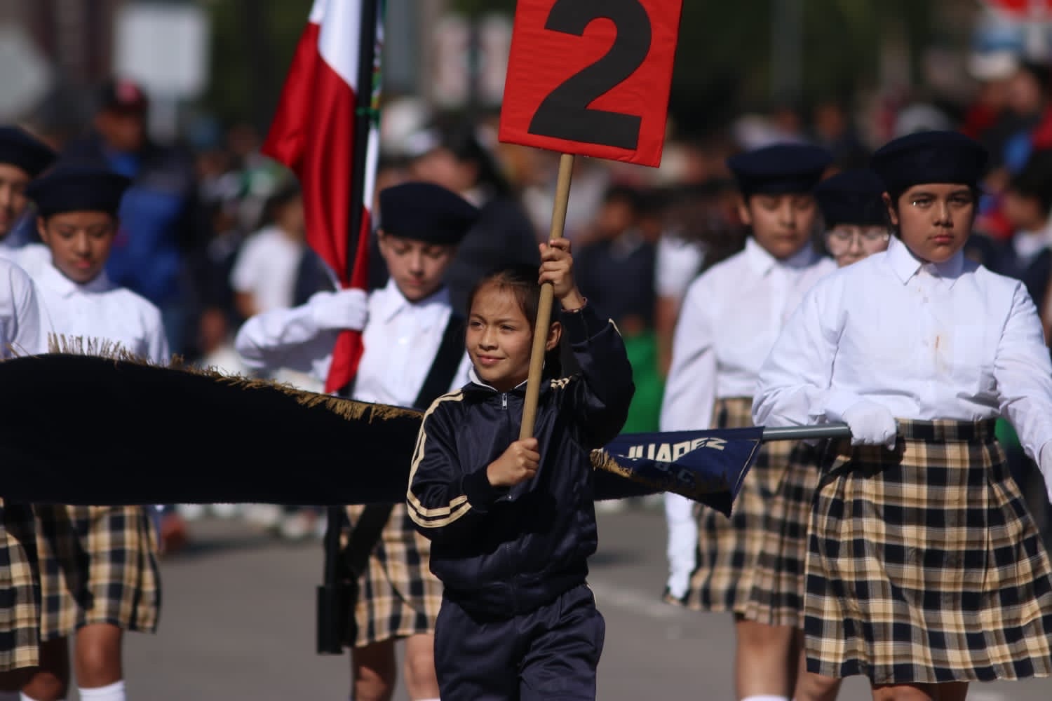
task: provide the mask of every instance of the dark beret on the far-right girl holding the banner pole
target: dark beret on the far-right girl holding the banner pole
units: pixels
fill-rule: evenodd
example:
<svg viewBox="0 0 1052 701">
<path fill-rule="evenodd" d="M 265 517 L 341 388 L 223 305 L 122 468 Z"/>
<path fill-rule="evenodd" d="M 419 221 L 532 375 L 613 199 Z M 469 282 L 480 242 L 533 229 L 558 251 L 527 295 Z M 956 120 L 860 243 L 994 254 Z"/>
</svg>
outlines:
<svg viewBox="0 0 1052 701">
<path fill-rule="evenodd" d="M 888 142 L 873 153 L 870 168 L 897 197 L 925 183 L 978 187 L 989 154 L 978 142 L 957 131 L 918 131 Z"/>
</svg>

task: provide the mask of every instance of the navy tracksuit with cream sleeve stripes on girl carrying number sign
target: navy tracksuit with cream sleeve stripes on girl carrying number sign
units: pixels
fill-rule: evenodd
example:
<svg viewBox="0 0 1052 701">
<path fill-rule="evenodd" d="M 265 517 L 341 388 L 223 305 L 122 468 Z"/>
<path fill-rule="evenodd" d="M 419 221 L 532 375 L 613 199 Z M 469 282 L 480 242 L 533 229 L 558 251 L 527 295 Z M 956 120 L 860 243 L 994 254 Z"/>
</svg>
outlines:
<svg viewBox="0 0 1052 701">
<path fill-rule="evenodd" d="M 532 479 L 501 490 L 486 476 L 519 438 L 525 384 L 470 383 L 421 427 L 407 502 L 444 585 L 443 701 L 594 698 L 604 625 L 585 584 L 598 543 L 589 453 L 621 431 L 634 387 L 612 322 L 587 305 L 561 321 L 581 372 L 542 385 Z"/>
</svg>

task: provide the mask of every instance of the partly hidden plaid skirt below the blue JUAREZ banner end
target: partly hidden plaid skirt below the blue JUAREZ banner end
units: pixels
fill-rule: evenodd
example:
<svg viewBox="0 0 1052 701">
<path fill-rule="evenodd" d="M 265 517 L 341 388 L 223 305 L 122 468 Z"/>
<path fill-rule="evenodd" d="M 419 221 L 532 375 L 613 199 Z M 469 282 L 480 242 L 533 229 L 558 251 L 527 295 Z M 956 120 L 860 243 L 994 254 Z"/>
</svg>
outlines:
<svg viewBox="0 0 1052 701">
<path fill-rule="evenodd" d="M 752 399 L 717 399 L 713 424 L 720 429 L 752 426 Z M 699 508 L 697 569 L 680 603 L 695 611 L 745 612 L 764 548 L 767 510 L 786 473 L 792 446 L 783 440 L 764 444 L 742 481 L 730 518 Z"/>
</svg>

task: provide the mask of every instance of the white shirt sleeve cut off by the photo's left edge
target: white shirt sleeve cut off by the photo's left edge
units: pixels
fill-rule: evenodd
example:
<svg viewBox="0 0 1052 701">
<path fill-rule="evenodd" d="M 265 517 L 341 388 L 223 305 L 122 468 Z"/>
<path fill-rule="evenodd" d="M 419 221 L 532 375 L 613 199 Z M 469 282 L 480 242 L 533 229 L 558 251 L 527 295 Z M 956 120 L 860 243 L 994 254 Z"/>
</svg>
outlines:
<svg viewBox="0 0 1052 701">
<path fill-rule="evenodd" d="M 0 259 L 0 358 L 47 352 L 50 323 L 33 280 Z"/>
</svg>

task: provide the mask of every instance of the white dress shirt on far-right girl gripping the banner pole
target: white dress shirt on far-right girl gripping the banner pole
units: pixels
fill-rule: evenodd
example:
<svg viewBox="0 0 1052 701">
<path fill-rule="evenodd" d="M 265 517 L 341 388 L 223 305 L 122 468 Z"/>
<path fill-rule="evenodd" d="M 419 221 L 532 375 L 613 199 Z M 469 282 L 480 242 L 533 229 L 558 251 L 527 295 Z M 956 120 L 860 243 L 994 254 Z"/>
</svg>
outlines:
<svg viewBox="0 0 1052 701">
<path fill-rule="evenodd" d="M 862 399 L 897 418 L 1004 415 L 1039 460 L 1052 440 L 1052 362 L 1026 287 L 960 252 L 925 264 L 896 238 L 822 281 L 761 370 L 753 418 L 823 421 Z"/>
</svg>

